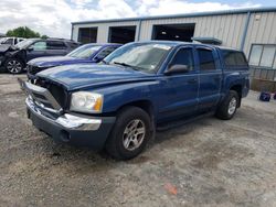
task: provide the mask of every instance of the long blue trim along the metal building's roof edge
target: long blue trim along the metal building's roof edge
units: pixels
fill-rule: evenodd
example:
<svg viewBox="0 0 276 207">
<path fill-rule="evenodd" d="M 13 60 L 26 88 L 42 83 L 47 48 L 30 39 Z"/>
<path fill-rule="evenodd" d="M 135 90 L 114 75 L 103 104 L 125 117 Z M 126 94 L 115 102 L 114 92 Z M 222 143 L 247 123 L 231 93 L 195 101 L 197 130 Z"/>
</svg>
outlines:
<svg viewBox="0 0 276 207">
<path fill-rule="evenodd" d="M 79 21 L 79 22 L 72 22 L 72 25 L 74 25 L 74 24 L 87 24 L 87 23 L 108 23 L 108 22 L 158 20 L 158 19 L 168 19 L 168 18 L 197 18 L 197 17 L 208 17 L 208 15 L 242 14 L 242 13 L 248 13 L 248 12 L 251 12 L 251 13 L 276 12 L 276 7 L 235 9 L 235 10 L 212 11 L 212 12 L 195 12 L 195 13 L 183 13 L 183 14 L 172 14 L 172 15 L 156 15 L 156 17 L 141 17 L 141 18 L 125 18 L 125 19 Z"/>
</svg>

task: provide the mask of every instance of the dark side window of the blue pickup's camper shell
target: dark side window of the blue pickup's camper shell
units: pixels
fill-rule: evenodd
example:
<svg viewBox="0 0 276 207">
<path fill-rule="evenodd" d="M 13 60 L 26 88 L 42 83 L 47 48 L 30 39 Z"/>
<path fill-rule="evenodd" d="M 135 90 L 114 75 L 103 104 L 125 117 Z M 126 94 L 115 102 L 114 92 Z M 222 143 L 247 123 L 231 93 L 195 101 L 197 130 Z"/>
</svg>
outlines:
<svg viewBox="0 0 276 207">
<path fill-rule="evenodd" d="M 223 51 L 224 64 L 226 67 L 247 67 L 247 62 L 242 52 Z"/>
</svg>

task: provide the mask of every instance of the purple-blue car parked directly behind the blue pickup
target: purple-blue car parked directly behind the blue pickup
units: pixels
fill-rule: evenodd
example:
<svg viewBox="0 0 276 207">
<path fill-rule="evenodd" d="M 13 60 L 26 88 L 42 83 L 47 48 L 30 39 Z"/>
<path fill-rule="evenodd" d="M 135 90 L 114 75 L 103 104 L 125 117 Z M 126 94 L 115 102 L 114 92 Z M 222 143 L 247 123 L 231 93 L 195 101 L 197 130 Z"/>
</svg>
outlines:
<svg viewBox="0 0 276 207">
<path fill-rule="evenodd" d="M 121 44 L 85 44 L 65 56 L 34 58 L 28 63 L 26 74 L 29 79 L 34 79 L 36 73 L 50 67 L 81 63 L 98 63 L 119 46 L 121 46 Z"/>
</svg>

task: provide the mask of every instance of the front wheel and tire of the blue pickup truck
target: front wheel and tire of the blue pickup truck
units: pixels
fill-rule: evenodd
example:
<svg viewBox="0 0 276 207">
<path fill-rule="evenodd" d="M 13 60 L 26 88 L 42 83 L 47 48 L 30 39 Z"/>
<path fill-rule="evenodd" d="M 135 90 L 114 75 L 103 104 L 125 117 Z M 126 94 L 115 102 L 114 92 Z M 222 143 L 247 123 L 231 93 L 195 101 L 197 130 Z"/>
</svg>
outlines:
<svg viewBox="0 0 276 207">
<path fill-rule="evenodd" d="M 105 149 L 115 160 L 132 159 L 144 151 L 151 132 L 150 117 L 146 111 L 138 107 L 124 108 L 118 113 Z"/>
</svg>

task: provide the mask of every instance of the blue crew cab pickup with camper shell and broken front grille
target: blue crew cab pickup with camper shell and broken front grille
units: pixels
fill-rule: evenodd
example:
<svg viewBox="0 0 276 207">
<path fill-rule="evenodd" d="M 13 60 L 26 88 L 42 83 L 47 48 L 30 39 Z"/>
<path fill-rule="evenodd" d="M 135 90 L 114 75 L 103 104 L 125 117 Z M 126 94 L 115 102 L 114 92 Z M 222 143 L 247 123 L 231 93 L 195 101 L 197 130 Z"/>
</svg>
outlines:
<svg viewBox="0 0 276 207">
<path fill-rule="evenodd" d="M 59 142 L 128 160 L 159 126 L 213 111 L 231 119 L 248 92 L 243 52 L 195 43 L 137 42 L 97 65 L 43 70 L 26 90 L 28 116 Z"/>
</svg>

